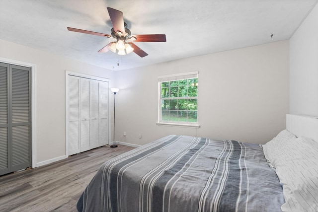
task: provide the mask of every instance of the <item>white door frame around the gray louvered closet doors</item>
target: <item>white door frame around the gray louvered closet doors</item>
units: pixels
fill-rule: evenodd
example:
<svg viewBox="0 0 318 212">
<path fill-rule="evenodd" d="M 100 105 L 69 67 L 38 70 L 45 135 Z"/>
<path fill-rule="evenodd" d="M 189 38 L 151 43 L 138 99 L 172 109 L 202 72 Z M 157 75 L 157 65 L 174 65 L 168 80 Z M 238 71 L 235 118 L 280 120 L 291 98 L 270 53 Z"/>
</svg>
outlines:
<svg viewBox="0 0 318 212">
<path fill-rule="evenodd" d="M 31 163 L 32 168 L 37 167 L 36 163 L 36 65 L 23 62 L 23 61 L 17 61 L 17 60 L 11 60 L 7 58 L 1 58 L 1 63 L 6 64 L 12 64 L 17 66 L 23 66 L 31 68 Z"/>
</svg>

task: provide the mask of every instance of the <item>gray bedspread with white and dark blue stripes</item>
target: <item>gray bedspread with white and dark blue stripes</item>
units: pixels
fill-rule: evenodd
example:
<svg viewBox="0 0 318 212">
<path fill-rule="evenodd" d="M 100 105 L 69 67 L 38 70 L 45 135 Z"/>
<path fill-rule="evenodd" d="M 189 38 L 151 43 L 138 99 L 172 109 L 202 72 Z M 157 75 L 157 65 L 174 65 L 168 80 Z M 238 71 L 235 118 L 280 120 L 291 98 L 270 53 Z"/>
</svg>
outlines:
<svg viewBox="0 0 318 212">
<path fill-rule="evenodd" d="M 276 212 L 278 177 L 258 144 L 171 135 L 106 161 L 80 212 Z"/>
</svg>

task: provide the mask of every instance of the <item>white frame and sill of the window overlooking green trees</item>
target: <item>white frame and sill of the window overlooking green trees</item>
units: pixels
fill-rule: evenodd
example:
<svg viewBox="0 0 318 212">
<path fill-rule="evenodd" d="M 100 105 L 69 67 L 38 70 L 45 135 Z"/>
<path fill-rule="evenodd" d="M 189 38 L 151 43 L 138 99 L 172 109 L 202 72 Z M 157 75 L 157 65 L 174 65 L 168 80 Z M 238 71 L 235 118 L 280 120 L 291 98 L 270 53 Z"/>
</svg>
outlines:
<svg viewBox="0 0 318 212">
<path fill-rule="evenodd" d="M 199 128 L 199 108 L 197 108 L 197 122 L 191 123 L 191 122 L 169 122 L 169 121 L 161 121 L 161 82 L 164 81 L 174 81 L 174 80 L 180 80 L 180 79 L 189 79 L 189 78 L 198 78 L 199 80 L 199 71 L 192 71 L 192 72 L 186 72 L 186 73 L 178 73 L 178 74 L 171 74 L 171 75 L 164 75 L 158 77 L 158 122 L 157 125 L 170 125 L 170 126 L 181 126 L 181 127 L 196 127 Z M 199 99 L 199 87 L 198 87 L 198 95 L 195 97 L 196 99 Z M 190 98 L 190 97 L 186 97 Z M 186 99 L 184 98 L 184 99 Z M 192 99 L 193 97 L 191 97 Z M 179 99 L 179 98 L 178 98 Z M 181 98 L 183 99 L 183 98 Z"/>
</svg>

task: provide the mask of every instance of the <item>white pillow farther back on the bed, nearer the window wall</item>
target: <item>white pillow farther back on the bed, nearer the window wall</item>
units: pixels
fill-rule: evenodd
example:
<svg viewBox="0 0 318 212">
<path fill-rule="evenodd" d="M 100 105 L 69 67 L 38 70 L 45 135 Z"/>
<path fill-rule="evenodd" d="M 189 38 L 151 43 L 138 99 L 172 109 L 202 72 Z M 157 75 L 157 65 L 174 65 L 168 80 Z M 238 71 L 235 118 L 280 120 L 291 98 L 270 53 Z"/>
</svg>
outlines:
<svg viewBox="0 0 318 212">
<path fill-rule="evenodd" d="M 294 134 L 288 130 L 283 130 L 271 141 L 262 145 L 269 165 L 275 167 L 278 161 L 282 160 L 285 155 L 288 155 L 289 148 L 296 139 L 297 137 Z"/>
</svg>

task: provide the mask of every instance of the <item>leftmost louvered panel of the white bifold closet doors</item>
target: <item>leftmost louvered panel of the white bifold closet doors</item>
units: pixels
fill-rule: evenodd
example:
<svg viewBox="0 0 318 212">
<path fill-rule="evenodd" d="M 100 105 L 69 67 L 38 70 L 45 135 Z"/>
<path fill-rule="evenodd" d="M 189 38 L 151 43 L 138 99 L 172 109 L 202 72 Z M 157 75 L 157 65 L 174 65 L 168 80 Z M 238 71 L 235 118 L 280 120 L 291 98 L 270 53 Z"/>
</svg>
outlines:
<svg viewBox="0 0 318 212">
<path fill-rule="evenodd" d="M 68 92 L 68 140 L 69 155 L 79 153 L 79 83 L 80 78 L 69 76 Z"/>
</svg>

